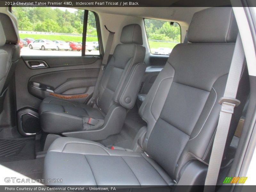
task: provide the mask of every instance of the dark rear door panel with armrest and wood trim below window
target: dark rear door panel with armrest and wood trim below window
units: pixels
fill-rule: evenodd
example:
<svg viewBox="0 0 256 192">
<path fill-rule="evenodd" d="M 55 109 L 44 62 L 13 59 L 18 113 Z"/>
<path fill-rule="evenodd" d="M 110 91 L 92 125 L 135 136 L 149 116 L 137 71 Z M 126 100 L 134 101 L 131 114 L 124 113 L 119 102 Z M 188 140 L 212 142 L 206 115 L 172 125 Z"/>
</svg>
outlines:
<svg viewBox="0 0 256 192">
<path fill-rule="evenodd" d="M 28 60 L 44 61 L 48 68 L 29 68 Z M 38 109 L 45 97 L 53 97 L 50 92 L 71 96 L 70 101 L 86 102 L 96 84 L 101 61 L 100 56 L 22 56 L 15 69 L 17 110 Z"/>
</svg>

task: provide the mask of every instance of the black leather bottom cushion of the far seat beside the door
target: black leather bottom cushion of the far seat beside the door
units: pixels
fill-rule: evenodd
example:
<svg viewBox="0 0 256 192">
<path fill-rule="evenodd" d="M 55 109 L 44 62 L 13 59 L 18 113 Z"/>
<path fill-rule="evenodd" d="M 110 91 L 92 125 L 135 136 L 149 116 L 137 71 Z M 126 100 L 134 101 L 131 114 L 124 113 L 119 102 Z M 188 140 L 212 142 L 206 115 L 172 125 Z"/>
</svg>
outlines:
<svg viewBox="0 0 256 192">
<path fill-rule="evenodd" d="M 62 133 L 83 130 L 88 117 L 104 119 L 105 114 L 82 103 L 47 97 L 40 104 L 39 116 L 44 132 Z"/>
</svg>

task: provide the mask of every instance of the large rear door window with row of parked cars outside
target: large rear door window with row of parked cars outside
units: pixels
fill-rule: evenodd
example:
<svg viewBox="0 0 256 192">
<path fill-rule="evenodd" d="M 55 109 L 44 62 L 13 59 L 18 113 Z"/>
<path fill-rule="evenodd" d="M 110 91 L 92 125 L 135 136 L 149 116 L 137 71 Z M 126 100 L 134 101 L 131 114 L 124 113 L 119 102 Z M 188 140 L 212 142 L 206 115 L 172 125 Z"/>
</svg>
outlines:
<svg viewBox="0 0 256 192">
<path fill-rule="evenodd" d="M 21 55 L 81 56 L 84 10 L 66 7 L 12 7 L 17 17 Z M 86 55 L 99 55 L 96 20 L 89 12 Z M 98 49 L 98 50 L 97 50 Z"/>
</svg>

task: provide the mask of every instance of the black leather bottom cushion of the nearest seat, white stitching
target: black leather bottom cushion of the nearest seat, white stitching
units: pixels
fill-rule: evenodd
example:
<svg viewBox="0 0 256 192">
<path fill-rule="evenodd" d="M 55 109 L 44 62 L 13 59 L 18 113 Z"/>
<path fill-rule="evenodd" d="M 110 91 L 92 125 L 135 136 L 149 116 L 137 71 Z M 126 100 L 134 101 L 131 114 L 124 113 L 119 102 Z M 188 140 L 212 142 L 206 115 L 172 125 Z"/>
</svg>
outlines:
<svg viewBox="0 0 256 192">
<path fill-rule="evenodd" d="M 67 174 L 68 173 L 68 174 Z M 144 153 L 111 150 L 97 142 L 56 139 L 44 161 L 44 178 L 57 185 L 173 185 L 173 180 Z"/>
</svg>

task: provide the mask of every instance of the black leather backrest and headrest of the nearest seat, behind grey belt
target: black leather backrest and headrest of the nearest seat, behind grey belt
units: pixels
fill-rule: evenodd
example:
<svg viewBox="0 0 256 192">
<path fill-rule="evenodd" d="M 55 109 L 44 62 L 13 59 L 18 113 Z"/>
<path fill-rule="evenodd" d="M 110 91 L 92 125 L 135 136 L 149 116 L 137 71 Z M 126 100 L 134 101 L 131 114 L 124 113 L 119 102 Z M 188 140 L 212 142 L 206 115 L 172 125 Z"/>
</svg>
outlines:
<svg viewBox="0 0 256 192">
<path fill-rule="evenodd" d="M 196 12 L 188 28 L 189 43 L 174 47 L 140 107 L 148 123 L 141 147 L 176 181 L 191 159 L 209 162 L 221 107 L 218 100 L 224 94 L 237 33 L 232 8 Z M 245 66 L 237 93 L 241 105 L 233 114 L 230 135 L 248 92 Z"/>
</svg>

